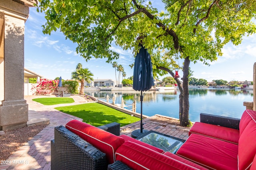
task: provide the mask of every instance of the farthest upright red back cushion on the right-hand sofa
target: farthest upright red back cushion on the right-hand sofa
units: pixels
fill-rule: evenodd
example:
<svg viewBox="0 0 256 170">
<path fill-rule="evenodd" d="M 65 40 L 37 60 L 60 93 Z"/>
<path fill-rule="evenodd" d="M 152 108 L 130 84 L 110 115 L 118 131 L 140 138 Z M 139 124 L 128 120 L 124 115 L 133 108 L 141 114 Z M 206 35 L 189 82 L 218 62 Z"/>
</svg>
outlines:
<svg viewBox="0 0 256 170">
<path fill-rule="evenodd" d="M 256 119 L 256 111 L 245 110 L 239 123 L 240 136 L 252 119 Z"/>
</svg>

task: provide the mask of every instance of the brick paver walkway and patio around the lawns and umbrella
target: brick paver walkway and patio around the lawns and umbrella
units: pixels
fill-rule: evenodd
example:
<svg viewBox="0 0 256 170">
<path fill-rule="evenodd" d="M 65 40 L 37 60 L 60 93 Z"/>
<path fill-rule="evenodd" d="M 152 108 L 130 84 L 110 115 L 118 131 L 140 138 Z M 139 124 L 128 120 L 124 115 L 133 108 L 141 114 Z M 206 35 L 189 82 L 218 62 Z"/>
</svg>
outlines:
<svg viewBox="0 0 256 170">
<path fill-rule="evenodd" d="M 6 160 L 6 162 L 1 162 L 0 170 L 50 170 L 50 141 L 54 139 L 54 127 L 65 125 L 67 122 L 73 119 L 82 121 L 82 119 L 68 115 L 66 113 L 62 113 L 54 109 L 54 107 L 86 103 L 83 97 L 74 95 L 71 97 L 74 99 L 75 103 L 54 106 L 45 106 L 32 101 L 32 99 L 35 97 L 46 96 L 26 96 L 25 99 L 27 100 L 29 109 L 36 111 L 44 117 L 50 119 L 50 124 L 36 136 L 34 136 L 32 140 L 29 140 L 24 146 L 14 152 L 14 154 L 12 154 Z M 156 116 L 144 119 L 144 129 L 154 130 L 182 139 L 188 138 L 189 128 L 174 126 L 164 122 L 160 123 L 155 121 L 155 119 L 157 119 Z M 128 136 L 131 136 L 131 132 L 139 128 L 140 121 L 122 127 L 121 134 L 127 134 Z"/>
</svg>

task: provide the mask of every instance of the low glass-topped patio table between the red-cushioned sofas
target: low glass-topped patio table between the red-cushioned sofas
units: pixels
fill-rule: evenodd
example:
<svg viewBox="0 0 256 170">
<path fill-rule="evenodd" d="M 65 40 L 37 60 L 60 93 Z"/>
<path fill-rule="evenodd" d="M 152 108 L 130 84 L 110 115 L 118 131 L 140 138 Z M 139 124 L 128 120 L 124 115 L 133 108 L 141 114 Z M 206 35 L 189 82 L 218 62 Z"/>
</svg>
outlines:
<svg viewBox="0 0 256 170">
<path fill-rule="evenodd" d="M 185 140 L 150 130 L 136 138 L 165 152 L 176 153 Z"/>
</svg>

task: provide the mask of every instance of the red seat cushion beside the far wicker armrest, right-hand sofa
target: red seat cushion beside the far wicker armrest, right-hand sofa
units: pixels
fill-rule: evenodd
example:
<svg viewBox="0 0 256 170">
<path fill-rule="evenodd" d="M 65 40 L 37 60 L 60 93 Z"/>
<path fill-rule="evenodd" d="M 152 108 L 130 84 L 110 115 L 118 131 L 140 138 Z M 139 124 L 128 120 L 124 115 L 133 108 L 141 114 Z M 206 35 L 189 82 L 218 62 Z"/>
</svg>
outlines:
<svg viewBox="0 0 256 170">
<path fill-rule="evenodd" d="M 224 140 L 227 142 L 238 144 L 239 130 L 234 128 L 221 127 L 208 123 L 196 122 L 189 130 L 188 135 L 202 134 L 204 136 Z"/>
</svg>

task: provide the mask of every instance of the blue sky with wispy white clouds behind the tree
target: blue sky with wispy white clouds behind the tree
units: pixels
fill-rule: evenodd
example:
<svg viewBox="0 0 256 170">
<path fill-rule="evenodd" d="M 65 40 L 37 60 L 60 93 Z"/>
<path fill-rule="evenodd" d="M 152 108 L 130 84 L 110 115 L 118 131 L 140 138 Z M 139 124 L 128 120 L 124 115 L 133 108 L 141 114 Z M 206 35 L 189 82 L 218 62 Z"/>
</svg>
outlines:
<svg viewBox="0 0 256 170">
<path fill-rule="evenodd" d="M 51 36 L 42 33 L 42 25 L 46 20 L 44 13 L 36 12 L 36 8 L 30 8 L 28 20 L 25 23 L 24 67 L 34 71 L 47 79 L 62 76 L 62 79 L 71 79 L 71 72 L 78 63 L 88 68 L 94 79 L 115 80 L 115 69 L 106 59 L 92 58 L 86 62 L 80 54 L 76 53 L 76 44 L 65 40 L 61 32 L 52 32 Z M 112 49 L 120 54 L 118 64 L 123 65 L 126 78 L 133 75 L 133 69 L 129 64 L 134 62 L 132 51 L 124 51 L 122 48 L 112 46 Z M 228 43 L 222 49 L 223 56 L 217 61 L 206 66 L 201 62 L 191 63 L 194 71 L 192 77 L 212 81 L 223 79 L 226 81 L 252 81 L 253 65 L 256 62 L 256 35 L 244 37 L 243 42 L 235 46 Z M 182 76 L 182 71 L 179 71 Z M 165 75 L 167 77 L 170 75 Z M 162 80 L 163 77 L 160 77 Z"/>
</svg>

